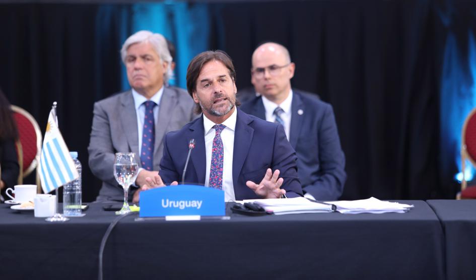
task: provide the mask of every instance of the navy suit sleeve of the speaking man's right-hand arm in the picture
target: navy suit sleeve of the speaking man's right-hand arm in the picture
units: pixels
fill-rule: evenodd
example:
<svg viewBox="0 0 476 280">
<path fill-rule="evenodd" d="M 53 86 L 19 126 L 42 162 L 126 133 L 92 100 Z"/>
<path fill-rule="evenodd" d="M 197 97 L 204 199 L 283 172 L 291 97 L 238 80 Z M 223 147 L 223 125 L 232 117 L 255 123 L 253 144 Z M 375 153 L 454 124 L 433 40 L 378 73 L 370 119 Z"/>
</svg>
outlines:
<svg viewBox="0 0 476 280">
<path fill-rule="evenodd" d="M 280 177 L 284 179 L 283 186 L 286 190 L 286 196 L 302 196 L 301 183 L 297 171 L 296 152 L 286 138 L 286 133 L 282 125 L 276 129 L 274 152 L 273 152 L 273 171 L 279 169 Z"/>
</svg>

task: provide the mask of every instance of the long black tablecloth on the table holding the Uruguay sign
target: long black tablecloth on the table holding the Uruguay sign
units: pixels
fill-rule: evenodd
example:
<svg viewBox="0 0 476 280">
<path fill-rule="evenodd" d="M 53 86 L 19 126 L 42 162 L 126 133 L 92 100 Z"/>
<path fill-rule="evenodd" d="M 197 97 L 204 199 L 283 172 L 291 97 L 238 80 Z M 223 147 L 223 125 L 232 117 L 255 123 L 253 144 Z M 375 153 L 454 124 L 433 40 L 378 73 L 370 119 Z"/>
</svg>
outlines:
<svg viewBox="0 0 476 280">
<path fill-rule="evenodd" d="M 443 232 L 424 201 L 405 214 L 299 214 L 135 222 L 104 252 L 105 279 L 443 279 Z M 0 205 L 5 278 L 94 279 L 101 238 L 116 217 L 92 203 L 84 218 L 47 223 Z M 2 277 L 4 278 L 4 277 Z"/>
</svg>

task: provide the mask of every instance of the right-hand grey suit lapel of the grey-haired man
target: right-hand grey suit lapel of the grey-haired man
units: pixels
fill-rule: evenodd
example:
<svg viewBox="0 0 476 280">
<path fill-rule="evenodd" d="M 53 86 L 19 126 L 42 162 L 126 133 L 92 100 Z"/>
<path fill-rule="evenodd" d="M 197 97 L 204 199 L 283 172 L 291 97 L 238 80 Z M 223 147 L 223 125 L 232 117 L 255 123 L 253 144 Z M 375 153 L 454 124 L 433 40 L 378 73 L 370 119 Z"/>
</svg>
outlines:
<svg viewBox="0 0 476 280">
<path fill-rule="evenodd" d="M 155 142 L 154 142 L 154 159 L 158 158 L 159 147 L 164 141 L 165 132 L 169 125 L 172 111 L 176 108 L 176 97 L 173 91 L 164 86 L 164 92 L 160 100 L 159 116 L 155 123 Z M 160 159 L 158 159 L 160 161 Z"/>
</svg>

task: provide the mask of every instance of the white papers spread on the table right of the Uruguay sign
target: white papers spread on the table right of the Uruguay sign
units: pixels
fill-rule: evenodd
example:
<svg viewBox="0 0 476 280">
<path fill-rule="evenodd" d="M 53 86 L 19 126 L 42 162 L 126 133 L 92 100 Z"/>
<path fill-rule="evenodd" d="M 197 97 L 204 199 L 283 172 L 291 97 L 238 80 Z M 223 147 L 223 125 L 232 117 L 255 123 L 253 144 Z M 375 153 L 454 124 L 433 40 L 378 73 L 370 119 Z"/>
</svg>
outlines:
<svg viewBox="0 0 476 280">
<path fill-rule="evenodd" d="M 375 197 L 361 200 L 342 201 L 314 201 L 304 197 L 295 198 L 271 198 L 271 199 L 247 199 L 236 202 L 253 202 L 260 205 L 266 211 L 273 211 L 275 215 L 301 214 L 301 213 L 329 213 L 335 211 L 342 214 L 360 213 L 405 213 L 413 208 L 413 205 L 398 202 L 382 201 Z"/>
</svg>

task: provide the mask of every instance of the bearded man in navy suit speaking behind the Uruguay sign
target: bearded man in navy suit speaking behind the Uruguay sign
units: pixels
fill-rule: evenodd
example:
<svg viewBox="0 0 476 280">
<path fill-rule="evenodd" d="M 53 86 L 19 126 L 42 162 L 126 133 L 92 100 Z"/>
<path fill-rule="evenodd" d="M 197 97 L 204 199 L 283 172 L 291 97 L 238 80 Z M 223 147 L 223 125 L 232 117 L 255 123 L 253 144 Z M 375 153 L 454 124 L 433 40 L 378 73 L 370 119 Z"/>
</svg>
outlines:
<svg viewBox="0 0 476 280">
<path fill-rule="evenodd" d="M 185 182 L 222 189 L 226 201 L 302 196 L 296 153 L 283 127 L 238 109 L 235 81 L 231 58 L 223 51 L 202 52 L 190 61 L 187 90 L 202 115 L 167 133 L 154 181 L 176 184 L 182 178 L 194 139 Z"/>
</svg>

